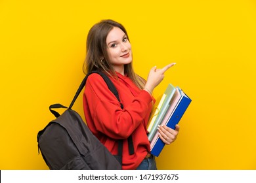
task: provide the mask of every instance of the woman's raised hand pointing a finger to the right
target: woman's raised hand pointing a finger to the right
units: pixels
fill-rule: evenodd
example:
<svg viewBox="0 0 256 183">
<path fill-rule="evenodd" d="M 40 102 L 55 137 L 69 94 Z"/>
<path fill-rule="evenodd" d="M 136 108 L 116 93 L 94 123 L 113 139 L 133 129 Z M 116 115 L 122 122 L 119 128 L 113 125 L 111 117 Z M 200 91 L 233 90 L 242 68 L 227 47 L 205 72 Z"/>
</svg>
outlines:
<svg viewBox="0 0 256 183">
<path fill-rule="evenodd" d="M 156 69 L 156 66 L 152 67 L 152 69 L 150 69 L 150 73 L 148 73 L 148 79 L 144 88 L 146 90 L 150 90 L 150 92 L 153 92 L 154 88 L 156 88 L 156 86 L 158 86 L 158 84 L 160 84 L 160 82 L 163 80 L 165 71 L 175 64 L 176 63 L 170 63 L 162 69 Z"/>
</svg>

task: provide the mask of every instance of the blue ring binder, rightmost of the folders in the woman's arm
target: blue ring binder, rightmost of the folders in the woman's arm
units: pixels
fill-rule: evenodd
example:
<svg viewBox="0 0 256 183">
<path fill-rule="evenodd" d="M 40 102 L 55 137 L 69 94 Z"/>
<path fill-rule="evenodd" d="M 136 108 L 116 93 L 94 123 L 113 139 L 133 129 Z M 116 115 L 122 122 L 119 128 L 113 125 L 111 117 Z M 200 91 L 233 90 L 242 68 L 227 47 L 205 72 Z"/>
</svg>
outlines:
<svg viewBox="0 0 256 183">
<path fill-rule="evenodd" d="M 184 92 L 182 92 L 182 90 L 180 91 L 181 91 L 181 100 L 166 124 L 168 127 L 171 127 L 172 129 L 175 129 L 175 125 L 179 123 L 184 112 L 186 111 L 186 108 L 188 108 L 188 105 L 190 105 L 190 102 L 192 101 Z M 161 141 L 160 138 L 158 138 L 154 146 L 152 146 L 151 153 L 154 156 L 159 156 L 164 146 L 165 146 L 165 143 Z"/>
</svg>

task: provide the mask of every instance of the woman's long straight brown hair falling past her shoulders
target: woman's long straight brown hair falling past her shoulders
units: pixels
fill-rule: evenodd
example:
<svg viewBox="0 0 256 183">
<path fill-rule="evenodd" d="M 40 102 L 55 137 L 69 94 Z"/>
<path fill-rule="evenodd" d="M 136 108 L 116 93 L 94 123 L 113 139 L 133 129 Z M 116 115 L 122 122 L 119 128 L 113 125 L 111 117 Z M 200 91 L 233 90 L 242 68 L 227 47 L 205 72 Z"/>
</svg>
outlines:
<svg viewBox="0 0 256 183">
<path fill-rule="evenodd" d="M 121 29 L 129 40 L 125 27 L 114 20 L 102 20 L 93 25 L 87 35 L 86 58 L 83 63 L 83 73 L 87 74 L 91 71 L 98 70 L 106 72 L 111 76 L 116 76 L 114 67 L 108 58 L 106 45 L 106 37 L 114 27 Z M 131 78 L 140 89 L 144 88 L 146 80 L 135 74 L 132 62 L 126 64 L 124 69 L 125 75 Z"/>
</svg>

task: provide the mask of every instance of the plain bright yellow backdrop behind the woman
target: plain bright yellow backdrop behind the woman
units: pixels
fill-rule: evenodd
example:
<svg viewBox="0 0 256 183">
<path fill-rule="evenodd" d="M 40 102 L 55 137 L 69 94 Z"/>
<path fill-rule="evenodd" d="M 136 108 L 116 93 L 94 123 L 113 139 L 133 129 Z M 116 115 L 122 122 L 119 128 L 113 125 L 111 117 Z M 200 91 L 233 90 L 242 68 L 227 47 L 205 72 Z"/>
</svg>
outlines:
<svg viewBox="0 0 256 183">
<path fill-rule="evenodd" d="M 155 97 L 170 82 L 192 99 L 158 169 L 256 169 L 253 0 L 1 0 L 0 169 L 48 169 L 37 132 L 54 119 L 49 105 L 70 104 L 89 28 L 106 18 L 125 25 L 139 75 L 177 63 Z"/>
</svg>

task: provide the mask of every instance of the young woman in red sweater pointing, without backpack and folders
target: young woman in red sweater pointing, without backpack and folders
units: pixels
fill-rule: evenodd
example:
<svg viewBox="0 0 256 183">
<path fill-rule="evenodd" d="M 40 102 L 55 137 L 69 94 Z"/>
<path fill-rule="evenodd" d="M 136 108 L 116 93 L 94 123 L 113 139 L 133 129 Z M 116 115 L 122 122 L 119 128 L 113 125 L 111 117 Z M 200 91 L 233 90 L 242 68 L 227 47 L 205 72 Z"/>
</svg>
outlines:
<svg viewBox="0 0 256 183">
<path fill-rule="evenodd" d="M 114 155 L 117 141 L 131 136 L 134 153 L 129 152 L 128 142 L 123 141 L 122 169 L 156 169 L 146 126 L 155 102 L 152 92 L 174 63 L 162 69 L 153 67 L 144 80 L 133 71 L 132 61 L 133 52 L 123 25 L 102 20 L 90 29 L 83 71 L 85 74 L 95 70 L 106 73 L 116 86 L 123 108 L 101 76 L 92 74 L 83 93 L 85 119 L 93 134 Z M 175 130 L 166 126 L 159 128 L 160 139 L 165 144 L 175 141 L 178 133 L 179 125 Z"/>
</svg>

